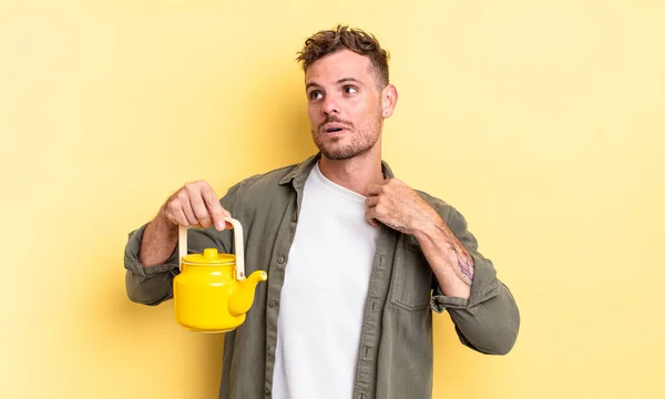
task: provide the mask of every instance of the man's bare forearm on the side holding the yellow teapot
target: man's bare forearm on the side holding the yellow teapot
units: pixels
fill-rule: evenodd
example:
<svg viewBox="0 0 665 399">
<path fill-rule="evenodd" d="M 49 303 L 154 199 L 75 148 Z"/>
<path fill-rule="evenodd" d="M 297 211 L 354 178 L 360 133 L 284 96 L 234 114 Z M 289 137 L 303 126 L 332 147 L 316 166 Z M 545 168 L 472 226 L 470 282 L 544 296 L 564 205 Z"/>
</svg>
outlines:
<svg viewBox="0 0 665 399">
<path fill-rule="evenodd" d="M 160 212 L 145 227 L 139 262 L 145 267 L 162 265 L 173 254 L 176 244 L 177 226 Z"/>
</svg>

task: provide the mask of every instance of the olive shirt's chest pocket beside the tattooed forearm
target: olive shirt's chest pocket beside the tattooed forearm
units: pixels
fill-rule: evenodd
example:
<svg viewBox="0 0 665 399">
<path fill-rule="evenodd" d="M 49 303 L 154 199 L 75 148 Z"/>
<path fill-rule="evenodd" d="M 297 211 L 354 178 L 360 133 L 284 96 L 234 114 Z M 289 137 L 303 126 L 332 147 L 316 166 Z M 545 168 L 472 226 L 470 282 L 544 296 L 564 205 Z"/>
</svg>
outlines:
<svg viewBox="0 0 665 399">
<path fill-rule="evenodd" d="M 417 244 L 400 241 L 392 276 L 390 301 L 393 305 L 409 311 L 429 308 L 432 269 Z"/>
</svg>

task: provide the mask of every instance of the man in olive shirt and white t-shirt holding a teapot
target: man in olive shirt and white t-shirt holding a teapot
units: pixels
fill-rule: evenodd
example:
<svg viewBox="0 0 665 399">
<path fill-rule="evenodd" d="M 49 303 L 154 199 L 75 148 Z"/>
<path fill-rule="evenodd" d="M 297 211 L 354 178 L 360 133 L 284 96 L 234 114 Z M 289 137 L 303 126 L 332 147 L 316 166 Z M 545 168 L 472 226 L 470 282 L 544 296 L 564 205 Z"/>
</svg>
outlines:
<svg viewBox="0 0 665 399">
<path fill-rule="evenodd" d="M 462 344 L 507 354 L 516 305 L 462 215 L 382 163 L 398 93 L 379 42 L 338 27 L 309 38 L 298 60 L 320 153 L 219 201 L 202 181 L 178 190 L 130 236 L 127 294 L 146 305 L 171 298 L 177 225 L 204 228 L 188 231 L 191 252 L 231 252 L 233 215 L 245 226 L 247 274 L 264 269 L 268 280 L 224 337 L 221 398 L 430 398 L 431 309 L 449 310 Z"/>
</svg>

